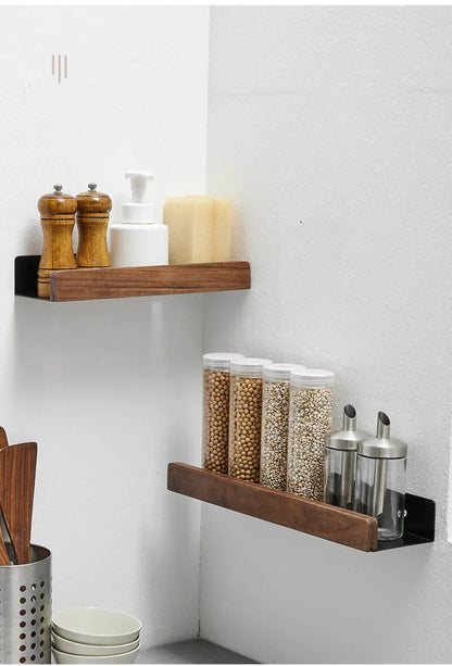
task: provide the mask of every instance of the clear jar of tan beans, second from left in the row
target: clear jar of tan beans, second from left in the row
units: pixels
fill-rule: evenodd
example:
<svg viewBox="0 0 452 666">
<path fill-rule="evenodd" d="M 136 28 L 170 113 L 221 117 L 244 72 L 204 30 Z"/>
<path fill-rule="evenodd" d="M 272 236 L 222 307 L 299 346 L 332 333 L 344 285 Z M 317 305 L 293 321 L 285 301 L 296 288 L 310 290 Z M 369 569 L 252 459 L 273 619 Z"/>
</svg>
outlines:
<svg viewBox="0 0 452 666">
<path fill-rule="evenodd" d="M 262 375 L 269 359 L 230 363 L 229 475 L 259 483 Z"/>
</svg>

